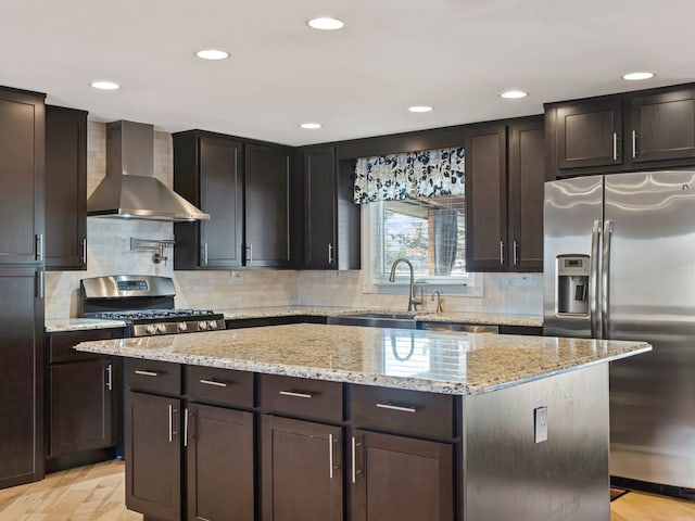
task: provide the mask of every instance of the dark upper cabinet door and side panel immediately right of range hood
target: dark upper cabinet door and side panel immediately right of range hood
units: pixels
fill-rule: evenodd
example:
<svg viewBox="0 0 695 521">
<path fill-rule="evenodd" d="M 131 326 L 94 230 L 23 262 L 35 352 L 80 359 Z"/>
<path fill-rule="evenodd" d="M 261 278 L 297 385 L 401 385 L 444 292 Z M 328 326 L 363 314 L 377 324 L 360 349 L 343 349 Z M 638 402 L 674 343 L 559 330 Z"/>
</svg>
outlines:
<svg viewBox="0 0 695 521">
<path fill-rule="evenodd" d="M 174 225 L 174 268 L 241 267 L 243 145 L 198 131 L 175 134 L 173 142 L 174 190 L 210 214 Z"/>
</svg>

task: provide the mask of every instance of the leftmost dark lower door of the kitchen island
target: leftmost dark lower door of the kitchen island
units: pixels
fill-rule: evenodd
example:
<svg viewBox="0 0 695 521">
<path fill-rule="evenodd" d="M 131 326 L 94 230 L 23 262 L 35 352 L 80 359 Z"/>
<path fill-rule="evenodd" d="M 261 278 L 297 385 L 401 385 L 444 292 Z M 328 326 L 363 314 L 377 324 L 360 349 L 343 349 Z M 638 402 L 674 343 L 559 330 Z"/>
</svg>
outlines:
<svg viewBox="0 0 695 521">
<path fill-rule="evenodd" d="M 160 521 L 181 517 L 180 401 L 126 392 L 126 506 Z"/>
</svg>

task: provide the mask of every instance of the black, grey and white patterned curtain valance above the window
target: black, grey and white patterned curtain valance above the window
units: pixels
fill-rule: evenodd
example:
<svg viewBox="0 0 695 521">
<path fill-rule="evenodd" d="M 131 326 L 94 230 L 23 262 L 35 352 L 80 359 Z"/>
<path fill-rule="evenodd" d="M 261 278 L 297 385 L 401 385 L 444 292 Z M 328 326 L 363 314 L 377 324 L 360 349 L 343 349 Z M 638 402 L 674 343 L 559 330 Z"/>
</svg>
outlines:
<svg viewBox="0 0 695 521">
<path fill-rule="evenodd" d="M 463 148 L 361 157 L 355 168 L 355 203 L 464 194 Z"/>
</svg>

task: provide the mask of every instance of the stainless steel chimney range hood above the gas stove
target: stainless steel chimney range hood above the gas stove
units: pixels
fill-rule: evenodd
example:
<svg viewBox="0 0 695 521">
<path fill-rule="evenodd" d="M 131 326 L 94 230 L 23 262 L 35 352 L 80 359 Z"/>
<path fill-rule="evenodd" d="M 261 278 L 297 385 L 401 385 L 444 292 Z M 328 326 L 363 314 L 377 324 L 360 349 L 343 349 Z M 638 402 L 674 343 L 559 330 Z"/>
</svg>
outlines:
<svg viewBox="0 0 695 521">
<path fill-rule="evenodd" d="M 87 200 L 87 215 L 147 220 L 206 220 L 154 177 L 154 127 L 143 123 L 106 125 L 106 177 Z"/>
</svg>

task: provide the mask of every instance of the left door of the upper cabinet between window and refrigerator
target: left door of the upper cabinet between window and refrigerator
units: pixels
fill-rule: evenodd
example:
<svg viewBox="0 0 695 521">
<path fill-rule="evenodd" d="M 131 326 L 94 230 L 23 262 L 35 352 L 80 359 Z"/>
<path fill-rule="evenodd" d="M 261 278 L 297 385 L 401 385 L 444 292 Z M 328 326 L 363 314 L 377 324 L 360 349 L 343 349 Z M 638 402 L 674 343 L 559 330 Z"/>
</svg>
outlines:
<svg viewBox="0 0 695 521">
<path fill-rule="evenodd" d="M 506 269 L 507 137 L 504 125 L 466 136 L 466 269 Z"/>
</svg>

